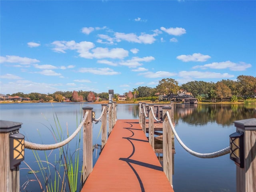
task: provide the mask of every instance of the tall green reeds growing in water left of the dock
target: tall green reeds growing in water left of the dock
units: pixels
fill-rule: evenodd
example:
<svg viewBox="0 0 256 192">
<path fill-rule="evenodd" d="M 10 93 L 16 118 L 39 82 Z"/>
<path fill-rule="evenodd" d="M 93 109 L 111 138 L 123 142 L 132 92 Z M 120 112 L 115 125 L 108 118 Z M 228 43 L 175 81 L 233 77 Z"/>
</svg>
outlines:
<svg viewBox="0 0 256 192">
<path fill-rule="evenodd" d="M 52 106 L 53 107 L 53 106 Z M 76 111 L 76 127 L 79 126 L 80 122 L 82 122 L 82 105 L 80 107 L 80 113 Z M 42 114 L 43 115 L 43 114 Z M 44 116 L 44 115 L 43 115 Z M 48 119 L 44 116 L 44 118 L 48 121 Z M 64 130 L 60 124 L 60 121 L 58 119 L 58 116 L 56 112 L 54 112 L 53 108 L 53 118 L 54 118 L 54 126 L 49 122 L 50 127 L 46 126 L 50 133 L 52 134 L 54 140 L 56 142 L 61 142 L 65 138 Z M 67 137 L 69 136 L 68 133 L 68 125 L 66 128 L 67 131 Z M 40 133 L 39 133 L 40 135 Z M 41 137 L 41 135 L 40 135 Z M 75 138 L 74 138 L 75 139 Z M 34 157 L 36 159 L 36 163 L 38 165 L 38 168 L 42 174 L 42 180 L 40 180 L 39 176 L 36 175 L 36 172 L 26 163 L 24 162 L 32 174 L 35 175 L 36 180 L 28 180 L 26 181 L 22 187 L 23 189 L 26 188 L 27 184 L 30 181 L 37 181 L 40 185 L 41 191 L 47 191 L 47 192 L 78 192 L 82 189 L 82 172 L 79 171 L 79 164 L 81 163 L 79 161 L 79 155 L 80 155 L 80 140 L 81 140 L 81 130 L 76 136 L 76 150 L 73 152 L 70 149 L 69 144 L 66 144 L 63 147 L 60 147 L 56 150 L 58 150 L 57 154 L 54 154 L 56 150 L 50 151 L 49 154 L 47 154 L 46 151 L 44 151 L 44 160 L 42 159 L 42 156 L 38 154 L 37 150 L 32 150 Z M 55 163 L 51 163 L 49 161 L 49 156 L 54 154 L 55 155 Z M 79 178 L 80 175 L 80 178 Z M 44 187 L 45 186 L 45 187 Z"/>
</svg>

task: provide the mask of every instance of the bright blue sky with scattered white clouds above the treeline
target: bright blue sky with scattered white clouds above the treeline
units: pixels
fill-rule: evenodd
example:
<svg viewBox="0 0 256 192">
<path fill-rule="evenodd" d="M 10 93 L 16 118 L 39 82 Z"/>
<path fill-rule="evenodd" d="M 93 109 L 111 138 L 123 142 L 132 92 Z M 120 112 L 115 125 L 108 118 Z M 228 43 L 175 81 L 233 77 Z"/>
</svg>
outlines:
<svg viewBox="0 0 256 192">
<path fill-rule="evenodd" d="M 256 76 L 256 1 L 0 1 L 0 93 Z"/>
</svg>

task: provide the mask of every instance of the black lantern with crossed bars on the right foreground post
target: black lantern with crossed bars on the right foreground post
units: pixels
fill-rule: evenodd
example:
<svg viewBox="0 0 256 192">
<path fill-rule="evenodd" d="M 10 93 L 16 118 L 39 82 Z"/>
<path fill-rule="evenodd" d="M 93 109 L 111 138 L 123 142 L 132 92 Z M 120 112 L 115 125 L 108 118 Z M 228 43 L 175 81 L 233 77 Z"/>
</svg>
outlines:
<svg viewBox="0 0 256 192">
<path fill-rule="evenodd" d="M 244 133 L 237 131 L 230 136 L 230 159 L 244 168 Z"/>
</svg>

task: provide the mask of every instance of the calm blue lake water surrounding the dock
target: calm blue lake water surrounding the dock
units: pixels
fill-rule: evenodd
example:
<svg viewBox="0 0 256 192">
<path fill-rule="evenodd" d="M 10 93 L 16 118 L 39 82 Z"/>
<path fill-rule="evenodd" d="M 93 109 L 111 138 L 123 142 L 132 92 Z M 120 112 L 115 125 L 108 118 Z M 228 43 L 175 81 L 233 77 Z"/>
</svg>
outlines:
<svg viewBox="0 0 256 192">
<path fill-rule="evenodd" d="M 1 104 L 1 120 L 22 122 L 20 132 L 26 140 L 36 143 L 52 144 L 55 142 L 51 127 L 56 126 L 63 130 L 66 138 L 67 132 L 72 134 L 80 122 L 82 107 L 92 106 L 96 118 L 101 114 L 100 104 L 74 104 L 74 103 L 37 103 L 37 104 Z M 247 118 L 256 118 L 256 108 L 242 105 L 174 105 L 174 121 L 176 131 L 184 144 L 190 149 L 209 153 L 229 146 L 229 135 L 235 132 L 234 121 Z M 55 120 L 54 120 L 55 117 Z M 118 119 L 138 119 L 137 104 L 118 104 Z M 57 122 L 57 125 L 55 124 Z M 78 123 L 77 123 L 78 122 Z M 93 143 L 100 145 L 101 123 L 93 126 Z M 68 150 L 76 150 L 76 139 L 69 145 Z M 201 159 L 188 154 L 175 140 L 174 176 L 173 186 L 176 192 L 235 192 L 236 166 L 229 159 L 229 155 L 213 159 Z M 94 150 L 94 164 L 99 156 L 100 147 Z M 39 152 L 42 158 L 54 164 L 58 150 Z M 55 155 L 56 154 L 56 155 Z M 80 152 L 82 159 L 82 150 Z M 38 165 L 31 150 L 25 150 L 25 162 L 32 169 L 37 170 Z M 81 167 L 81 166 L 80 166 Z M 25 184 L 22 191 L 40 191 L 36 178 L 28 174 L 28 167 L 24 162 L 20 165 L 20 184 Z M 40 173 L 39 179 L 43 178 Z M 24 189 L 25 188 L 25 189 Z"/>
</svg>

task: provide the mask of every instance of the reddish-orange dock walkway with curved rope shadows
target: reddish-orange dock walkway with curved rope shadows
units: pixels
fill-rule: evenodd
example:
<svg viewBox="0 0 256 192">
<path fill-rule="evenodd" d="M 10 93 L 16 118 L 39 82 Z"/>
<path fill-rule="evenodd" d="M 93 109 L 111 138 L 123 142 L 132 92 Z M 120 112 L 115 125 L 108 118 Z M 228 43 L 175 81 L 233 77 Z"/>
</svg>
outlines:
<svg viewBox="0 0 256 192">
<path fill-rule="evenodd" d="M 81 192 L 173 192 L 138 120 L 118 120 Z"/>
</svg>

